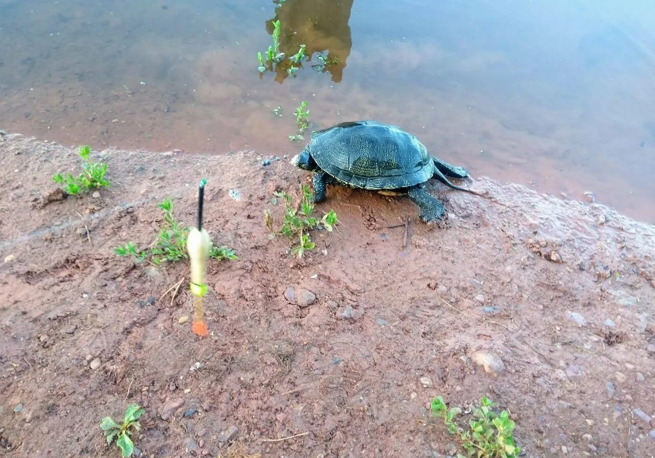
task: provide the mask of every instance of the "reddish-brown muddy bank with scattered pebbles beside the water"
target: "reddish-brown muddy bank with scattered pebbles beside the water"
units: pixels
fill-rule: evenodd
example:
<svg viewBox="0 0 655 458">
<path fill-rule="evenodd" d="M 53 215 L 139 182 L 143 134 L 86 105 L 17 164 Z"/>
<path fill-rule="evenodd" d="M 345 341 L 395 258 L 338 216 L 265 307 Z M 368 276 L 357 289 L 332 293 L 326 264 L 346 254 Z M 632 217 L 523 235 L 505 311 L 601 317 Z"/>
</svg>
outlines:
<svg viewBox="0 0 655 458">
<path fill-rule="evenodd" d="M 510 410 L 524 456 L 655 454 L 652 225 L 481 179 L 468 185 L 486 198 L 435 184 L 449 218 L 430 227 L 405 198 L 331 188 L 318 208 L 336 210 L 339 232 L 314 233 L 316 250 L 296 260 L 262 218 L 265 208 L 279 218 L 272 191 L 309 180 L 288 161 L 107 149 L 112 186 L 100 199 L 39 202 L 76 154 L 0 140 L 8 456 L 118 456 L 98 423 L 139 402 L 146 457 L 194 446 L 233 456 L 231 441 L 262 457 L 441 457 L 454 441 L 429 424 L 438 394 Z M 206 339 L 178 324 L 191 315 L 186 286 L 160 299 L 185 263 L 157 269 L 112 252 L 153 240 L 166 196 L 193 221 L 200 178 L 205 225 L 239 256 L 210 265 Z M 388 226 L 406 218 L 403 249 L 404 228 Z M 290 303 L 290 287 L 316 301 Z M 485 372 L 472 360 L 480 350 L 504 370 Z"/>
</svg>

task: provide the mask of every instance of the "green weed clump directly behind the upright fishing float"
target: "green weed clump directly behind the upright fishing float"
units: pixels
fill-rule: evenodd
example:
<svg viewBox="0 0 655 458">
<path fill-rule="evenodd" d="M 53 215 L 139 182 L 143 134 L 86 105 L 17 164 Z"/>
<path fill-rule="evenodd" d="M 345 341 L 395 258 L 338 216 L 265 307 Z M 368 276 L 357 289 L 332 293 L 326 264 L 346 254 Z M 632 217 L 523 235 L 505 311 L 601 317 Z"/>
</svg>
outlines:
<svg viewBox="0 0 655 458">
<path fill-rule="evenodd" d="M 187 254 L 189 227 L 181 225 L 178 219 L 175 218 L 173 200 L 167 197 L 157 207 L 164 211 L 164 223 L 159 229 L 157 239 L 147 250 L 139 250 L 134 243 L 127 242 L 124 246 L 114 248 L 115 254 L 118 256 L 134 256 L 138 262 L 150 259 L 156 265 L 165 261 L 176 262 L 189 258 L 189 254 Z M 236 259 L 236 254 L 229 246 L 215 246 L 212 244 L 210 258 L 218 261 Z"/>
</svg>

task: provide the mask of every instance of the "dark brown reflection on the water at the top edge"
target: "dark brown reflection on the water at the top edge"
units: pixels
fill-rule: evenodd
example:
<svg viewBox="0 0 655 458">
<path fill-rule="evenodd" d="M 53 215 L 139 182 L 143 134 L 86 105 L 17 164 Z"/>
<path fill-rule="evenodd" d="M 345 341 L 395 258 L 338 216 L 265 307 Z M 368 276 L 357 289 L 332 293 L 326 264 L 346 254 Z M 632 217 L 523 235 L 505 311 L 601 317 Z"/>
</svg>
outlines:
<svg viewBox="0 0 655 458">
<path fill-rule="evenodd" d="M 336 63 L 327 65 L 323 71 L 329 71 L 332 81 L 339 83 L 352 47 L 348 20 L 353 1 L 286 0 L 275 9 L 275 17 L 266 22 L 266 30 L 272 35 L 272 22 L 280 20 L 280 50 L 286 56 L 298 52 L 300 45 L 307 45 L 308 61 L 313 54 L 326 51 L 327 60 Z M 275 81 L 282 83 L 289 76 L 289 65 L 285 59 L 276 66 Z"/>
</svg>

